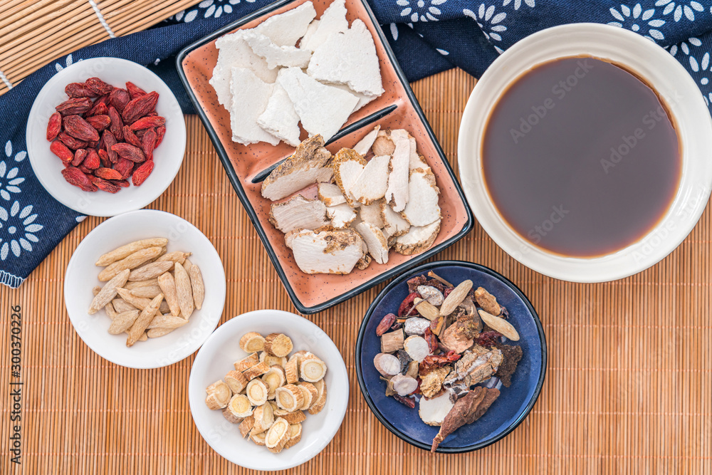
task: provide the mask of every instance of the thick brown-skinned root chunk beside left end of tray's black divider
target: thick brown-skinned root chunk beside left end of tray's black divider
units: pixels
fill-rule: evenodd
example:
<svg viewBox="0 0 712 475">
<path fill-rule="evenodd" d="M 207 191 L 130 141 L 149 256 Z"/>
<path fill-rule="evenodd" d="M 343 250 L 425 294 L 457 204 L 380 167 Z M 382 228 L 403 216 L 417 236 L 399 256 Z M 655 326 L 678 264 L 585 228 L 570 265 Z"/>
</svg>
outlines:
<svg viewBox="0 0 712 475">
<path fill-rule="evenodd" d="M 309 184 L 328 182 L 333 170 L 325 165 L 330 159 L 331 152 L 324 148 L 323 137 L 309 137 L 262 182 L 262 196 L 275 201 L 288 197 Z"/>
</svg>

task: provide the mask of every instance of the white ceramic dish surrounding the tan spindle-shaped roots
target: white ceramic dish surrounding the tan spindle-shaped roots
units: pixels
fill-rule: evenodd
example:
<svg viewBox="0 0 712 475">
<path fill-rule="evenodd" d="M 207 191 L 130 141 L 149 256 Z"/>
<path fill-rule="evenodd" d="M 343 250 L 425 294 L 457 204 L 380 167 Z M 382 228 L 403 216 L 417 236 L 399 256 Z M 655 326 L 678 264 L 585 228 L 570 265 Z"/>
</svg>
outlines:
<svg viewBox="0 0 712 475">
<path fill-rule="evenodd" d="M 92 288 L 101 286 L 94 263 L 102 254 L 138 239 L 166 237 L 167 251 L 187 251 L 200 267 L 205 298 L 189 323 L 160 338 L 126 347 L 126 335 L 110 335 L 111 323 L 104 310 L 89 315 Z M 220 321 L 225 304 L 225 271 L 215 248 L 197 227 L 185 219 L 153 209 L 140 209 L 107 219 L 80 242 L 67 266 L 64 302 L 74 329 L 84 343 L 101 357 L 117 365 L 154 368 L 172 365 L 188 357 L 209 337 Z"/>
</svg>

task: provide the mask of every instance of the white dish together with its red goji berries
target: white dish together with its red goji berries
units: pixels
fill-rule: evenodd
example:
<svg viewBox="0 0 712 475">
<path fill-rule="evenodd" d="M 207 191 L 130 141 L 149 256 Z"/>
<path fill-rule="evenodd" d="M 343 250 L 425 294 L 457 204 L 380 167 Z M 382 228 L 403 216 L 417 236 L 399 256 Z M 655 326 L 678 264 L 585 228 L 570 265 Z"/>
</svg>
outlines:
<svg viewBox="0 0 712 475">
<path fill-rule="evenodd" d="M 183 113 L 155 73 L 121 58 L 78 61 L 54 75 L 27 120 L 27 152 L 58 202 L 91 216 L 145 207 L 183 162 Z"/>
</svg>

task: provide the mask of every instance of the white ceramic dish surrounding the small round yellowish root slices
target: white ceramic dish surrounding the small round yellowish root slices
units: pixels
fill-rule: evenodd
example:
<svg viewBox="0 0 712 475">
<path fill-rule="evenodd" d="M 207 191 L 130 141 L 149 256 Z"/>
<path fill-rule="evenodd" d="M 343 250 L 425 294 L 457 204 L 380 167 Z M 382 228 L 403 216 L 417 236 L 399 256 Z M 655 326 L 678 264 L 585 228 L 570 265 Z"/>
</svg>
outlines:
<svg viewBox="0 0 712 475">
<path fill-rule="evenodd" d="M 234 361 L 247 355 L 240 349 L 239 340 L 249 331 L 265 336 L 284 333 L 292 339 L 294 351 L 311 351 L 328 367 L 324 409 L 318 414 L 306 413 L 307 418 L 302 422 L 302 439 L 279 454 L 243 439 L 236 424 L 228 422 L 221 411 L 211 411 L 205 405 L 205 388 L 221 380 L 226 372 L 234 369 Z M 334 438 L 346 414 L 349 377 L 339 349 L 317 325 L 282 310 L 255 310 L 236 316 L 210 335 L 193 362 L 188 398 L 190 412 L 200 434 L 221 456 L 248 469 L 283 470 L 313 459 Z"/>
</svg>

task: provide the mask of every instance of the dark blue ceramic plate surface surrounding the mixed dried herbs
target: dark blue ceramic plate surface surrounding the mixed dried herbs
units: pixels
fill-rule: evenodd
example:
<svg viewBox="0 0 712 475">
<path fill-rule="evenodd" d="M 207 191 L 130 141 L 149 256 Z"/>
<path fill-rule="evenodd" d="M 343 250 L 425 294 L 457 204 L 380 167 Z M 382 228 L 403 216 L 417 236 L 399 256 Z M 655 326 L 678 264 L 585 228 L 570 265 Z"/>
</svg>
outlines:
<svg viewBox="0 0 712 475">
<path fill-rule="evenodd" d="M 406 281 L 414 276 L 434 271 L 457 285 L 470 279 L 474 287 L 482 286 L 496 296 L 509 310 L 509 321 L 517 329 L 523 350 L 522 359 L 512 376 L 511 387 L 501 387 L 501 395 L 480 419 L 460 427 L 440 444 L 437 451 L 461 453 L 481 449 L 512 432 L 534 406 L 546 372 L 546 339 L 539 317 L 532 304 L 507 278 L 490 268 L 463 261 L 438 261 L 414 268 L 383 289 L 371 304 L 356 341 L 356 372 L 361 392 L 378 419 L 391 432 L 409 444 L 429 450 L 439 427 L 425 424 L 418 415 L 418 404 L 410 409 L 392 397 L 386 397 L 385 382 L 373 366 L 373 357 L 380 351 L 376 327 L 383 315 L 397 313 L 408 295 Z"/>
</svg>

